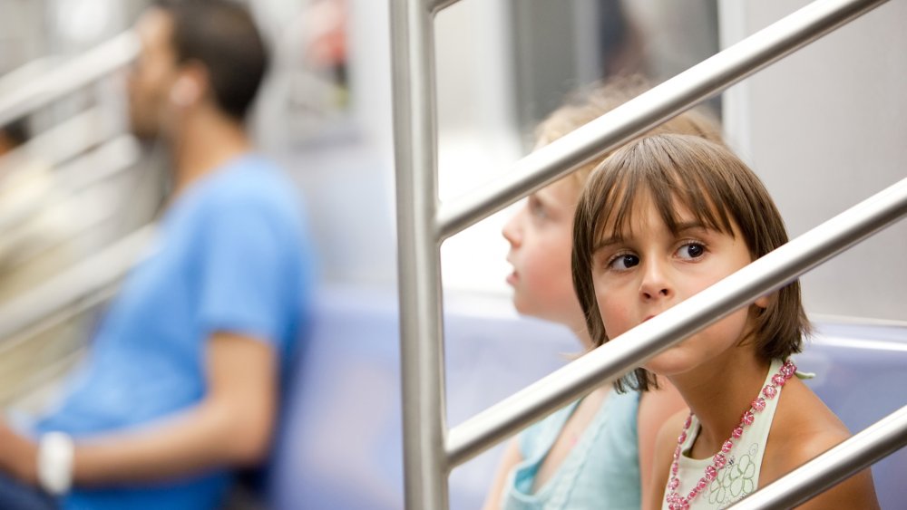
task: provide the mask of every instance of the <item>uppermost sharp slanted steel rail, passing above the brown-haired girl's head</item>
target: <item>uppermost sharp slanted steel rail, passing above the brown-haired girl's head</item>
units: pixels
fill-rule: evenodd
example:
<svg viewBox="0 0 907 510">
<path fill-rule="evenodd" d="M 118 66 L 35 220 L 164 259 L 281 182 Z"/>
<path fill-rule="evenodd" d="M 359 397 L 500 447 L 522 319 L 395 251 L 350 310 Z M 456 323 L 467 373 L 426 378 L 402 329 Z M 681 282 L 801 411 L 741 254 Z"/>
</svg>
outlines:
<svg viewBox="0 0 907 510">
<path fill-rule="evenodd" d="M 599 119 L 533 151 L 502 177 L 483 188 L 441 204 L 437 220 L 441 240 L 543 188 L 885 1 L 814 2 Z"/>
</svg>

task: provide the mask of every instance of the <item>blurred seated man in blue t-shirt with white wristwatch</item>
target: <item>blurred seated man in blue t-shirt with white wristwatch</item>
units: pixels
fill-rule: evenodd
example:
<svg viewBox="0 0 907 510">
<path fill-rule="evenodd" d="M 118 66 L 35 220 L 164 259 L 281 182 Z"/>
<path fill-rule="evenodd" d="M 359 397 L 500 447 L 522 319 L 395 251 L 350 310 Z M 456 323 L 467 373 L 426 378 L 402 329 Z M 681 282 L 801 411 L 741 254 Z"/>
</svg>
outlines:
<svg viewBox="0 0 907 510">
<path fill-rule="evenodd" d="M 3 508 L 222 505 L 229 471 L 268 454 L 305 326 L 297 199 L 243 127 L 267 61 L 255 24 L 158 2 L 137 32 L 132 129 L 170 148 L 173 194 L 60 404 L 31 433 L 0 421 Z"/>
</svg>

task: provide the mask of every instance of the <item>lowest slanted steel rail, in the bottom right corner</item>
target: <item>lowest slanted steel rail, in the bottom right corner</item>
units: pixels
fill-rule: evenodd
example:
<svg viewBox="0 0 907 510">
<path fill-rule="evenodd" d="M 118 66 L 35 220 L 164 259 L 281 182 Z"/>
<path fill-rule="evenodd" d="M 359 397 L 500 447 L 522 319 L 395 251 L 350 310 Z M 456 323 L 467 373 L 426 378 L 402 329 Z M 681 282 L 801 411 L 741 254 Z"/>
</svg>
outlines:
<svg viewBox="0 0 907 510">
<path fill-rule="evenodd" d="M 731 506 L 793 508 L 907 445 L 907 406 Z"/>
</svg>

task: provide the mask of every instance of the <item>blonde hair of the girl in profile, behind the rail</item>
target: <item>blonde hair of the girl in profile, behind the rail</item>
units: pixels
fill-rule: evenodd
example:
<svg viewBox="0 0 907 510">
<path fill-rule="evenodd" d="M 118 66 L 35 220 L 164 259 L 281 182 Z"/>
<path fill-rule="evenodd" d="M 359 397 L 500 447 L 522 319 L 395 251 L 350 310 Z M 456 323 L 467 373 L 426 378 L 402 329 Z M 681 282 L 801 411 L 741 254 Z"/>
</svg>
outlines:
<svg viewBox="0 0 907 510">
<path fill-rule="evenodd" d="M 592 120 L 596 120 L 605 113 L 614 110 L 642 92 L 648 91 L 649 88 L 649 83 L 642 76 L 634 74 L 616 76 L 603 84 L 593 86 L 591 90 L 580 89 L 573 92 L 563 106 L 551 112 L 536 128 L 536 147 L 548 145 L 552 141 L 558 140 L 571 131 L 580 128 L 580 126 L 588 124 Z M 657 133 L 694 135 L 717 143 L 724 143 L 717 120 L 705 111 L 699 110 L 685 111 L 640 136 Z M 578 185 L 577 189 L 582 188 L 586 178 L 589 178 L 592 168 L 595 168 L 601 159 L 605 159 L 608 156 L 609 154 L 605 154 L 600 159 L 587 163 L 566 178 L 574 179 Z"/>
</svg>

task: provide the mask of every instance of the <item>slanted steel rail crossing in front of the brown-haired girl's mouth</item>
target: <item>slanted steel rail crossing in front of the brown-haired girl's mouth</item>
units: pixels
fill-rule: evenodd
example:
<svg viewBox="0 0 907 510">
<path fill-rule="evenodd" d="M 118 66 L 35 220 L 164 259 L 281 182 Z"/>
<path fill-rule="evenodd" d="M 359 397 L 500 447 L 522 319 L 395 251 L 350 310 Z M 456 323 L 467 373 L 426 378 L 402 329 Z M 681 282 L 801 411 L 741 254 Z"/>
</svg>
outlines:
<svg viewBox="0 0 907 510">
<path fill-rule="evenodd" d="M 905 216 L 907 178 L 451 429 L 446 445 L 451 466 L 619 378 L 658 351 L 788 284 Z"/>
</svg>

